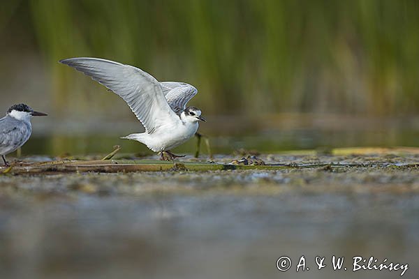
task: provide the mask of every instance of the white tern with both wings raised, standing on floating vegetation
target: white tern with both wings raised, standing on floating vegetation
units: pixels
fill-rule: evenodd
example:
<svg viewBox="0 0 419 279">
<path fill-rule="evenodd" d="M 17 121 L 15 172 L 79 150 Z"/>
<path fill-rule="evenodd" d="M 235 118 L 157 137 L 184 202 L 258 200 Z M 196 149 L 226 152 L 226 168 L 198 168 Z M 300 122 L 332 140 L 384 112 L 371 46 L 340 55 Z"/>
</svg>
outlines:
<svg viewBox="0 0 419 279">
<path fill-rule="evenodd" d="M 59 62 L 88 75 L 124 99 L 145 127 L 145 133 L 122 138 L 145 144 L 160 153 L 161 160 L 184 157 L 170 150 L 196 135 L 198 122 L 205 121 L 197 107 L 186 107 L 198 93 L 191 84 L 159 82 L 139 68 L 106 59 L 80 57 Z"/>
</svg>

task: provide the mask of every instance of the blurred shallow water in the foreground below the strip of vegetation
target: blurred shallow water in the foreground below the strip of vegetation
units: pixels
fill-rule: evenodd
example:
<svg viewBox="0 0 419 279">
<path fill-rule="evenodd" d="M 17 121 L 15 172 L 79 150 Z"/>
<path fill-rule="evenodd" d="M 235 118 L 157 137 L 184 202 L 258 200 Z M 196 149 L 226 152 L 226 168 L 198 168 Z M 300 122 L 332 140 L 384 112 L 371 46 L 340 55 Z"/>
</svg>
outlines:
<svg viewBox="0 0 419 279">
<path fill-rule="evenodd" d="M 345 257 L 348 269 L 359 255 L 408 263 L 404 278 L 416 278 L 418 174 L 418 167 L 312 167 L 0 176 L 0 270 L 4 278 L 399 278 L 399 271 L 332 271 L 332 255 Z M 280 272 L 284 255 L 293 267 Z M 302 255 L 310 270 L 296 273 Z M 328 264 L 321 271 L 317 255 Z"/>
</svg>

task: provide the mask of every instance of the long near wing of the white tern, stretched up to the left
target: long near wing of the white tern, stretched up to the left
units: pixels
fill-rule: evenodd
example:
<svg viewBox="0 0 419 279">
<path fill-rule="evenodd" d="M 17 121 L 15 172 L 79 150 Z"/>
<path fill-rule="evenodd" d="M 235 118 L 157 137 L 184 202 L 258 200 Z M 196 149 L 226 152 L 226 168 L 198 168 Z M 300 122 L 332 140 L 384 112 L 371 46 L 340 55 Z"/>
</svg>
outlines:
<svg viewBox="0 0 419 279">
<path fill-rule="evenodd" d="M 115 61 L 97 58 L 71 58 L 60 61 L 88 75 L 123 98 L 146 133 L 170 121 L 180 121 L 170 109 L 160 83 L 143 70 Z"/>
</svg>

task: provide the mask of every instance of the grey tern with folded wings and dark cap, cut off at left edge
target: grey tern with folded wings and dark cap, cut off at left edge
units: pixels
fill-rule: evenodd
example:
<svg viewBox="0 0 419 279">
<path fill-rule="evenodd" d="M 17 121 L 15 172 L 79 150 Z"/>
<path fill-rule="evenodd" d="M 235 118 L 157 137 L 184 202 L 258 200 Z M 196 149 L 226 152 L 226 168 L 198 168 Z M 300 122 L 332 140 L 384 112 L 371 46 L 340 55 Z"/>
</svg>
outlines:
<svg viewBox="0 0 419 279">
<path fill-rule="evenodd" d="M 8 167 L 6 155 L 20 148 L 32 133 L 32 116 L 46 116 L 43 112 L 35 112 L 29 105 L 18 104 L 10 107 L 0 119 L 0 155 Z"/>
</svg>

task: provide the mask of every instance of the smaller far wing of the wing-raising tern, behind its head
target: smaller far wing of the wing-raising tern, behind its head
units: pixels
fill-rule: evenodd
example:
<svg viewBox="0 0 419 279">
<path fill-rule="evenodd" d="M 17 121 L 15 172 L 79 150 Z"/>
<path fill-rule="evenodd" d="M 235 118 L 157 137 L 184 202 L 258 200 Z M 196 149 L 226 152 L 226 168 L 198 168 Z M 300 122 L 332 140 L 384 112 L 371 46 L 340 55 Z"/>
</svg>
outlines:
<svg viewBox="0 0 419 279">
<path fill-rule="evenodd" d="M 160 82 L 160 85 L 166 100 L 176 114 L 180 114 L 189 100 L 198 93 L 195 87 L 184 82 Z"/>
</svg>

